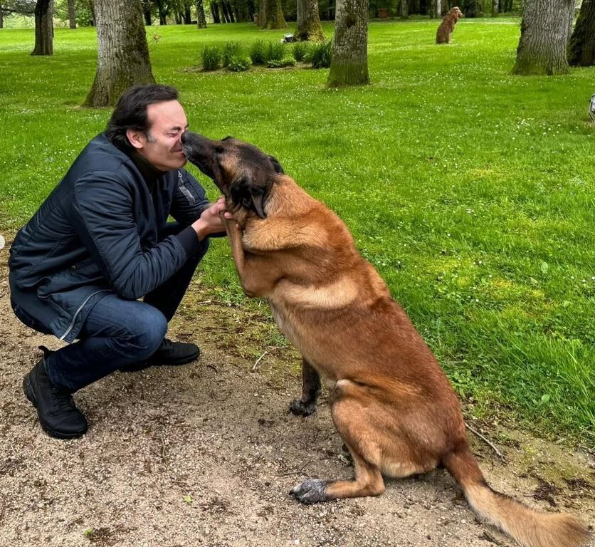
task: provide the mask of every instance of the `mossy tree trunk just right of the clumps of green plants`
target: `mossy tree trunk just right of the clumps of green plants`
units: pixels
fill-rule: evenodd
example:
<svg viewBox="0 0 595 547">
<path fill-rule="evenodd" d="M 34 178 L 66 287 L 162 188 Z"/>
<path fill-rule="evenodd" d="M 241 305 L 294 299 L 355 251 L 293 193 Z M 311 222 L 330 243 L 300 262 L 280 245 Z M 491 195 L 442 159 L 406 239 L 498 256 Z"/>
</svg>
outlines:
<svg viewBox="0 0 595 547">
<path fill-rule="evenodd" d="M 369 0 L 337 0 L 328 87 L 370 83 Z"/>
</svg>

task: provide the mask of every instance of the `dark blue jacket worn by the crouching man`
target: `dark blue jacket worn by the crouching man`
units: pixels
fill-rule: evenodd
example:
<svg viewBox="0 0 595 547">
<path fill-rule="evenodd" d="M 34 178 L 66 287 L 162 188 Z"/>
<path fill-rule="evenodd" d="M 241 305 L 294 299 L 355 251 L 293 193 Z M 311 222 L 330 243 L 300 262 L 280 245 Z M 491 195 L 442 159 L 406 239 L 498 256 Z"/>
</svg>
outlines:
<svg viewBox="0 0 595 547">
<path fill-rule="evenodd" d="M 208 245 L 189 226 L 206 207 L 186 170 L 162 174 L 150 192 L 135 162 L 98 135 L 14 239 L 16 316 L 72 342 L 100 298 L 136 300 Z M 168 215 L 188 227 L 159 241 Z"/>
</svg>

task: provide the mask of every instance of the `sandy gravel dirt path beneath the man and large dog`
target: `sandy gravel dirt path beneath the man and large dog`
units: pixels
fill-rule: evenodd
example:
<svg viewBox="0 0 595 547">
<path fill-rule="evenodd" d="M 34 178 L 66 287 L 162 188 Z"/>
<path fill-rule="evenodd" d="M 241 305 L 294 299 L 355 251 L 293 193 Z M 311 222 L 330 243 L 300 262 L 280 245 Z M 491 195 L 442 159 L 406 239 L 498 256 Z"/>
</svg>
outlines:
<svg viewBox="0 0 595 547">
<path fill-rule="evenodd" d="M 198 288 L 170 334 L 198 341 L 199 363 L 107 377 L 75 395 L 88 434 L 47 437 L 21 380 L 38 345 L 60 343 L 14 318 L 7 255 L 0 251 L 0 547 L 512 546 L 475 521 L 443 471 L 388 481 L 376 499 L 293 501 L 288 490 L 308 476 L 352 474 L 328 407 L 323 400 L 306 420 L 288 415 L 300 391 L 297 355 L 263 345 L 272 325 L 201 302 Z M 592 457 L 518 432 L 486 433 L 507 458 L 471 439 L 496 489 L 595 522 Z"/>
</svg>

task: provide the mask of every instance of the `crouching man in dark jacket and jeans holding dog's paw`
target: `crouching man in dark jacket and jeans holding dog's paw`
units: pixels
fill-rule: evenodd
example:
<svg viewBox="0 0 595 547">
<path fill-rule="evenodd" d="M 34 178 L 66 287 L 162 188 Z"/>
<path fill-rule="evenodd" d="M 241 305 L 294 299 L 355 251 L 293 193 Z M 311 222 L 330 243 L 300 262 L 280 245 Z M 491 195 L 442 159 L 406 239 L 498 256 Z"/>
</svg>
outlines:
<svg viewBox="0 0 595 547">
<path fill-rule="evenodd" d="M 187 127 L 177 90 L 130 88 L 14 240 L 14 313 L 42 333 L 78 339 L 55 352 L 42 347 L 23 380 L 52 437 L 87 431 L 72 397 L 81 387 L 117 369 L 199 357 L 196 345 L 164 338 L 209 236 L 224 231 L 222 200 L 209 203 L 183 169 Z"/>
</svg>

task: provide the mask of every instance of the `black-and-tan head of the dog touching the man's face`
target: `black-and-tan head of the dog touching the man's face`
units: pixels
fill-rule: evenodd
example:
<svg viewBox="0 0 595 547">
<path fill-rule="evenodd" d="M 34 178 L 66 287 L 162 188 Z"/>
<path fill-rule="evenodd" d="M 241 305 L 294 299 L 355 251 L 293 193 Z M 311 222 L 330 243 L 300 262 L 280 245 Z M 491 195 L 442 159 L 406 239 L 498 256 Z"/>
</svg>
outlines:
<svg viewBox="0 0 595 547">
<path fill-rule="evenodd" d="M 228 207 L 253 211 L 266 217 L 270 187 L 283 167 L 273 157 L 247 142 L 225 137 L 211 140 L 186 131 L 181 137 L 184 154 L 226 197 Z"/>
</svg>

